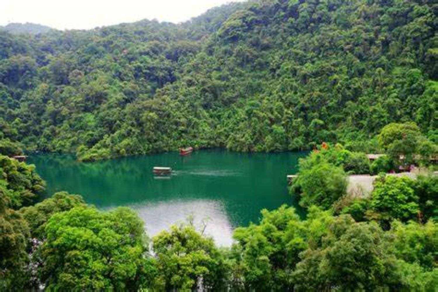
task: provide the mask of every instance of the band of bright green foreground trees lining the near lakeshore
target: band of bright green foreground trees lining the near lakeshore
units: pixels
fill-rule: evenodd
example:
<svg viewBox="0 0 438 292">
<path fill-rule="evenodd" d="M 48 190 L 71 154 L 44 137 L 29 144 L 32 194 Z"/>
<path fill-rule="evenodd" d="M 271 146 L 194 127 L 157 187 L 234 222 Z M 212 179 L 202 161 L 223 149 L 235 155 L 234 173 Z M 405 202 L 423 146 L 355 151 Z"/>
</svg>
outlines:
<svg viewBox="0 0 438 292">
<path fill-rule="evenodd" d="M 369 198 L 335 197 L 344 178 L 330 173 L 345 151 L 300 162 L 303 190 L 314 185 L 300 193 L 304 220 L 286 205 L 262 210 L 229 248 L 190 220 L 149 238 L 129 208 L 99 211 L 66 192 L 35 204 L 44 182 L 34 167 L 0 155 L 0 288 L 435 291 L 438 177 L 381 176 Z M 326 178 L 306 177 L 309 165 Z"/>
</svg>

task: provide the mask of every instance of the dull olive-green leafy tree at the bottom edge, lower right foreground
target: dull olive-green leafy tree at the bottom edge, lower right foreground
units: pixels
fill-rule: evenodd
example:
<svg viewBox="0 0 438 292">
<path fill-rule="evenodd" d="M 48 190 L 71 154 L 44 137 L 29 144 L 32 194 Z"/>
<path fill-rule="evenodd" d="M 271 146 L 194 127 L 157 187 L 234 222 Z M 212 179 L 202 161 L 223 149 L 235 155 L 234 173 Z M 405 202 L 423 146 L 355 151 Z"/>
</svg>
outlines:
<svg viewBox="0 0 438 292">
<path fill-rule="evenodd" d="M 301 257 L 293 273 L 299 289 L 373 289 L 385 286 L 391 271 L 380 227 L 355 223 L 348 215 L 329 226 L 321 247 Z"/>
</svg>

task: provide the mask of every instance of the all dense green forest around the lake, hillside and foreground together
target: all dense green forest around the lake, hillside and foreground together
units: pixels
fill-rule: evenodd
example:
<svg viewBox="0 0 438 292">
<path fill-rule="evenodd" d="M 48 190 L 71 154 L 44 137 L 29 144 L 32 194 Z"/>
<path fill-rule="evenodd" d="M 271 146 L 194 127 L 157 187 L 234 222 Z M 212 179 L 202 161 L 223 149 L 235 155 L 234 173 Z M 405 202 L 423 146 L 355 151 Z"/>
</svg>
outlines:
<svg viewBox="0 0 438 292">
<path fill-rule="evenodd" d="M 0 30 L 0 289 L 436 291 L 438 177 L 382 172 L 436 169 L 437 9 L 251 0 L 178 25 Z M 262 210 L 227 248 L 190 220 L 150 238 L 129 208 L 42 200 L 35 166 L 10 157 L 187 145 L 314 148 L 290 186 L 306 217 Z M 380 175 L 352 197 L 348 174 Z"/>
</svg>

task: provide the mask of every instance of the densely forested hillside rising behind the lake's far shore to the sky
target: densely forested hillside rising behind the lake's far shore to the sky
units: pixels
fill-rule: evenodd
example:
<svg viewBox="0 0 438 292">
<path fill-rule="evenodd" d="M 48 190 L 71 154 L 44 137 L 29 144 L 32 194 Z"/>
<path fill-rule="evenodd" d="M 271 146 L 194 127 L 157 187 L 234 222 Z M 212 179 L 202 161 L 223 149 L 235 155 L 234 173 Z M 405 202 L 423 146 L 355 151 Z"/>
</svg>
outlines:
<svg viewBox="0 0 438 292">
<path fill-rule="evenodd" d="M 81 160 L 185 145 L 365 151 L 412 120 L 436 142 L 437 8 L 256 0 L 180 25 L 0 32 L 0 138 Z"/>
</svg>

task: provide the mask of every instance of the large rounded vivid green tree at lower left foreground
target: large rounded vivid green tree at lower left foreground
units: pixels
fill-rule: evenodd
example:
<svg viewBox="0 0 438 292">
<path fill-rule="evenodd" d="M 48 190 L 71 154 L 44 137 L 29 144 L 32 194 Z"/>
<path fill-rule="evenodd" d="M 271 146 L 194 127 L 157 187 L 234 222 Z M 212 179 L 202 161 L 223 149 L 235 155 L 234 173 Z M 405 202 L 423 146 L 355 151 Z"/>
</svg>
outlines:
<svg viewBox="0 0 438 292">
<path fill-rule="evenodd" d="M 128 208 L 56 213 L 44 237 L 39 277 L 49 289 L 137 290 L 147 271 L 143 222 Z"/>
</svg>

